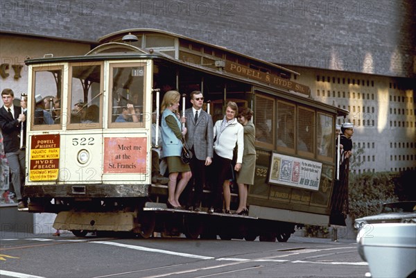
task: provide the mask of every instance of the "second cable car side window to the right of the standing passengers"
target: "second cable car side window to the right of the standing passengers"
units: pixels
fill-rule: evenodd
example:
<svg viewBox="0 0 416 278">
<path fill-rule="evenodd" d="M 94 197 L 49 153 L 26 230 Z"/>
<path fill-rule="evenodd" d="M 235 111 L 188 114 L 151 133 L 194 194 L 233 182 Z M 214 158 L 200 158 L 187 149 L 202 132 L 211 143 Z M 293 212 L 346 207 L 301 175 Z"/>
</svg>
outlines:
<svg viewBox="0 0 416 278">
<path fill-rule="evenodd" d="M 277 146 L 295 148 L 295 105 L 277 102 Z"/>
</svg>

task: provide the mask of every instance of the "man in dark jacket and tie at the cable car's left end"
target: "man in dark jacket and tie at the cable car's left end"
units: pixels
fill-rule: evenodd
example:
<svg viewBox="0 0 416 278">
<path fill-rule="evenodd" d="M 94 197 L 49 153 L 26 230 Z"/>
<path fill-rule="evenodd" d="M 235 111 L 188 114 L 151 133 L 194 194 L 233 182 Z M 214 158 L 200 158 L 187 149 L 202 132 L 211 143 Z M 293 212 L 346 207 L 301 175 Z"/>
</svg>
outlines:
<svg viewBox="0 0 416 278">
<path fill-rule="evenodd" d="M 1 99 L 3 107 L 0 108 L 0 128 L 3 134 L 4 153 L 12 173 L 12 184 L 15 189 L 18 209 L 24 209 L 23 184 L 25 176 L 25 151 L 20 148 L 21 125 L 26 121 L 21 107 L 13 105 L 15 94 L 12 89 L 3 89 Z"/>
</svg>

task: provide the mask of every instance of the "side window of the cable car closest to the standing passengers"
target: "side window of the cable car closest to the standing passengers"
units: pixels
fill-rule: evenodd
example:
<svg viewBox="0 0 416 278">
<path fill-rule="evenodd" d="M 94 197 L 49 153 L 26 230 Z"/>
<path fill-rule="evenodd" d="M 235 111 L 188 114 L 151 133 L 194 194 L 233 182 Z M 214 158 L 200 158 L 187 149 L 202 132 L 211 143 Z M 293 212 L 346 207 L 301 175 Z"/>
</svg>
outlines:
<svg viewBox="0 0 416 278">
<path fill-rule="evenodd" d="M 256 141 L 273 146 L 273 134 L 275 133 L 274 115 L 275 100 L 266 96 L 256 95 L 256 112 L 254 115 Z"/>
</svg>

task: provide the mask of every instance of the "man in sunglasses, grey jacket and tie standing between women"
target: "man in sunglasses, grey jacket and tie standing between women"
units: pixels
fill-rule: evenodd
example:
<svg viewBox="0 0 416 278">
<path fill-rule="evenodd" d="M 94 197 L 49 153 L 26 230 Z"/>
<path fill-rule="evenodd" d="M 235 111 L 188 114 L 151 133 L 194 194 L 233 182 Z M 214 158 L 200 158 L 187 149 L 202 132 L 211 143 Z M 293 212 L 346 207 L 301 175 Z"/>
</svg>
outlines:
<svg viewBox="0 0 416 278">
<path fill-rule="evenodd" d="M 185 110 L 187 118 L 187 145 L 192 151 L 190 162 L 192 179 L 187 186 L 188 209 L 200 210 L 202 191 L 205 183 L 206 167 L 212 162 L 214 146 L 214 128 L 211 115 L 202 110 L 204 96 L 200 91 L 193 91 L 190 94 L 192 107 Z M 194 192 L 192 192 L 192 186 Z"/>
</svg>

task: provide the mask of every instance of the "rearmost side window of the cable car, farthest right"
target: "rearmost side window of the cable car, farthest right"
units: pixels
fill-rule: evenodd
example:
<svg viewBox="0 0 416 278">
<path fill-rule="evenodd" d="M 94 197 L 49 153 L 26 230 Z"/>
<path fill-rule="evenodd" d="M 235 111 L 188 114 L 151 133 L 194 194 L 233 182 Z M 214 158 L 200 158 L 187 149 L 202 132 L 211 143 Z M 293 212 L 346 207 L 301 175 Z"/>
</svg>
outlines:
<svg viewBox="0 0 416 278">
<path fill-rule="evenodd" d="M 333 134 L 333 118 L 326 114 L 318 113 L 317 125 L 318 155 L 332 157 L 335 135 Z"/>
</svg>

